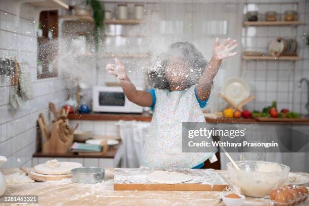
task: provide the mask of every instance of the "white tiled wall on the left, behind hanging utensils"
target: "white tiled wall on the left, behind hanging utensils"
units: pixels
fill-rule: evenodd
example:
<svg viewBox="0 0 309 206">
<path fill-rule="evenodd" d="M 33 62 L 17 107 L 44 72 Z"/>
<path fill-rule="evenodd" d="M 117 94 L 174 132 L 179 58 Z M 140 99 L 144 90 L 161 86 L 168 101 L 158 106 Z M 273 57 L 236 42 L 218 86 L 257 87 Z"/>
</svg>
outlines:
<svg viewBox="0 0 309 206">
<path fill-rule="evenodd" d="M 0 1 L 0 58 L 16 57 L 28 62 L 34 98 L 14 110 L 9 105 L 12 92 L 8 76 L 0 75 L 0 156 L 8 158 L 3 167 L 31 166 L 36 151 L 36 119 L 40 112 L 47 118 L 48 101 L 61 104 L 65 100 L 60 78 L 36 78 L 35 8 L 23 4 L 20 25 L 16 27 L 16 0 Z"/>
</svg>

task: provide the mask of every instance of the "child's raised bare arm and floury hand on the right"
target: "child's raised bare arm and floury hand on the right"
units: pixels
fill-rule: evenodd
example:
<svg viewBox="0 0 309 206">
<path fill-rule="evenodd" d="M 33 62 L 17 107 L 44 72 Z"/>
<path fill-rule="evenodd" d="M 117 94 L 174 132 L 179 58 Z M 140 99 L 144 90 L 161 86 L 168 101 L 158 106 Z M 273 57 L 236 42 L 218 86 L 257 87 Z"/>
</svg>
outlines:
<svg viewBox="0 0 309 206">
<path fill-rule="evenodd" d="M 213 48 L 213 57 L 196 86 L 196 93 L 200 100 L 204 101 L 209 98 L 213 79 L 218 72 L 222 60 L 236 55 L 237 53 L 233 53 L 232 50 L 236 48 L 237 45 L 236 40 L 231 40 L 230 38 L 227 38 L 222 44 L 219 45 L 219 38 L 216 38 Z"/>
</svg>

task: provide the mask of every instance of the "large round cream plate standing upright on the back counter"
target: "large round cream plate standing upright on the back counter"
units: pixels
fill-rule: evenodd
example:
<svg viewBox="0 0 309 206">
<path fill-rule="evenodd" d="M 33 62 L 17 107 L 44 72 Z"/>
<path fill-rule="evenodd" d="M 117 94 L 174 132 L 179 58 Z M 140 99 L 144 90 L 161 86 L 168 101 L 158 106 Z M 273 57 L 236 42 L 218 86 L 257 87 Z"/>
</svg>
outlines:
<svg viewBox="0 0 309 206">
<path fill-rule="evenodd" d="M 250 88 L 243 78 L 230 77 L 225 81 L 221 92 L 238 105 L 242 100 L 249 97 Z"/>
</svg>

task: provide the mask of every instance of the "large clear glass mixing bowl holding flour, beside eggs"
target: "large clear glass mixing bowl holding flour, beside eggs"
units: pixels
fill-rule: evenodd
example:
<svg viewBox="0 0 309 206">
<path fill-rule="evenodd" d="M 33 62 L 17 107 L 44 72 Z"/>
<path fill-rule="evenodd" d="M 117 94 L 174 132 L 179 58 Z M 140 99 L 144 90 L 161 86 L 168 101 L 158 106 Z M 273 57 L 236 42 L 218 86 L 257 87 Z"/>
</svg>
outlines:
<svg viewBox="0 0 309 206">
<path fill-rule="evenodd" d="M 231 183 L 240 188 L 241 194 L 264 197 L 271 190 L 281 187 L 288 178 L 288 166 L 264 161 L 236 161 L 240 170 L 227 164 Z"/>
</svg>

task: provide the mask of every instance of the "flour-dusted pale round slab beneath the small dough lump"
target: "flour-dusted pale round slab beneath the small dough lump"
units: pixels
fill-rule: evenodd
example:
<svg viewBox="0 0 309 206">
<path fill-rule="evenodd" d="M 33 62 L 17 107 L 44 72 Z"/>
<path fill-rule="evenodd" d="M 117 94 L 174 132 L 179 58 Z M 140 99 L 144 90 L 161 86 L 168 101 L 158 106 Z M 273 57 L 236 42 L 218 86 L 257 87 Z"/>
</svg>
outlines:
<svg viewBox="0 0 309 206">
<path fill-rule="evenodd" d="M 59 162 L 58 168 L 49 168 L 46 164 L 40 164 L 34 167 L 34 172 L 44 175 L 66 175 L 71 174 L 71 170 L 74 168 L 83 167 L 80 163 L 74 162 Z"/>
</svg>

